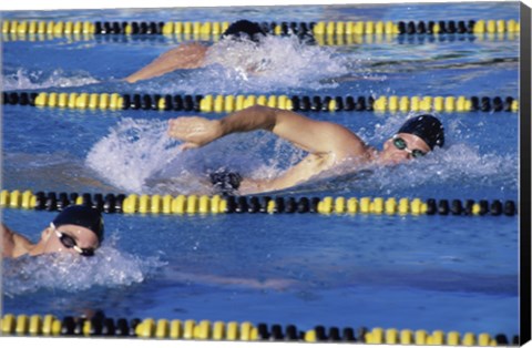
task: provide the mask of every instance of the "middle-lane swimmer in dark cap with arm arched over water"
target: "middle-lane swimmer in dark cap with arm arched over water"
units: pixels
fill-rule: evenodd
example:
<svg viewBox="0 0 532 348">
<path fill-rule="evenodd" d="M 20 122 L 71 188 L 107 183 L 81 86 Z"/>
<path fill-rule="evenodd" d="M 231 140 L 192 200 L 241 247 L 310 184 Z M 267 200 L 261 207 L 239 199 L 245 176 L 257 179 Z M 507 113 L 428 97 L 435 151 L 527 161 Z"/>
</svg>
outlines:
<svg viewBox="0 0 532 348">
<path fill-rule="evenodd" d="M 409 119 L 378 151 L 350 130 L 331 122 L 310 120 L 301 114 L 255 105 L 222 120 L 185 116 L 168 121 L 168 136 L 183 141 L 182 150 L 204 146 L 233 133 L 265 130 L 308 152 L 299 163 L 270 180 L 242 178 L 236 173 L 215 173 L 211 180 L 222 193 L 238 190 L 254 194 L 288 188 L 338 166 L 360 171 L 369 165 L 396 165 L 419 158 L 443 146 L 443 125 L 432 115 Z"/>
</svg>

